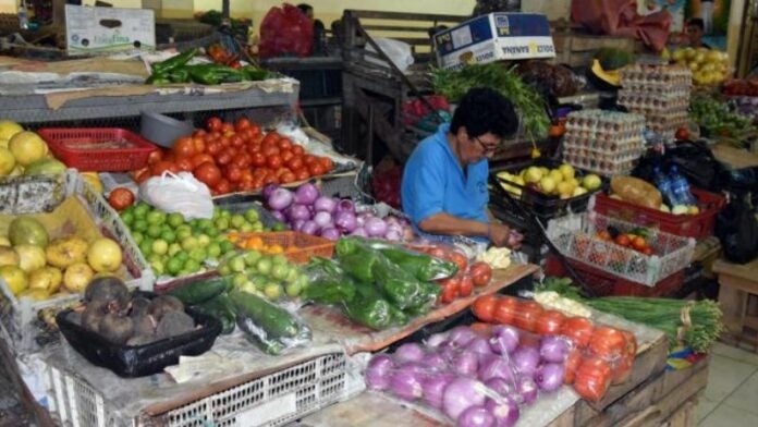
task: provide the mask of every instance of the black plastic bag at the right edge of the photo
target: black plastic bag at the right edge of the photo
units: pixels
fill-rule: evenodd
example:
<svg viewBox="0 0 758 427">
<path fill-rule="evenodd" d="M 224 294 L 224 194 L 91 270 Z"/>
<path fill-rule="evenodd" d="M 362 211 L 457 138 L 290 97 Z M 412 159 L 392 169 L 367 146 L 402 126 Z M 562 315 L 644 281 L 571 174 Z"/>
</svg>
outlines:
<svg viewBox="0 0 758 427">
<path fill-rule="evenodd" d="M 732 263 L 745 264 L 758 256 L 758 219 L 747 196 L 735 197 L 719 213 L 716 235 Z"/>
</svg>

